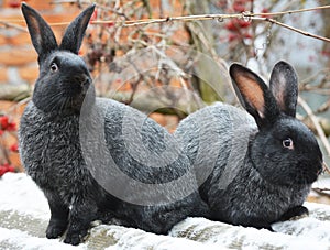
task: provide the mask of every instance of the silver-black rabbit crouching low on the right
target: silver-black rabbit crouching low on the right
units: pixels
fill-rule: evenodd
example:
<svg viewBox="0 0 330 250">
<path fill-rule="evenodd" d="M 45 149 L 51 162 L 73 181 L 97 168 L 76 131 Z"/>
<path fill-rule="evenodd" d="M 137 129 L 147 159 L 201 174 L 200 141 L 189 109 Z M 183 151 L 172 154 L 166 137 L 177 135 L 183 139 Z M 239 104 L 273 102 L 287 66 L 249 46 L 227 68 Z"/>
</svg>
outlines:
<svg viewBox="0 0 330 250">
<path fill-rule="evenodd" d="M 322 153 L 295 118 L 298 84 L 289 64 L 274 66 L 270 87 L 239 64 L 230 76 L 251 116 L 215 104 L 184 119 L 176 137 L 195 167 L 209 218 L 272 230 L 275 221 L 308 214 L 302 203 L 322 171 Z"/>
</svg>

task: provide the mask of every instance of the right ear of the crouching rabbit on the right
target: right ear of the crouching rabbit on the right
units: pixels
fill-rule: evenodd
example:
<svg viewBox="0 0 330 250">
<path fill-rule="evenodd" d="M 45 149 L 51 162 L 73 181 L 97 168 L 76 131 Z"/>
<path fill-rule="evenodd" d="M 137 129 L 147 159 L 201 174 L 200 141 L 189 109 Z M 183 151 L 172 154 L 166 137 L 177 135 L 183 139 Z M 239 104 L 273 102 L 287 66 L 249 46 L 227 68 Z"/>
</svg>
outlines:
<svg viewBox="0 0 330 250">
<path fill-rule="evenodd" d="M 286 62 L 278 62 L 272 72 L 270 88 L 279 109 L 296 117 L 298 98 L 298 78 L 295 69 Z"/>
</svg>

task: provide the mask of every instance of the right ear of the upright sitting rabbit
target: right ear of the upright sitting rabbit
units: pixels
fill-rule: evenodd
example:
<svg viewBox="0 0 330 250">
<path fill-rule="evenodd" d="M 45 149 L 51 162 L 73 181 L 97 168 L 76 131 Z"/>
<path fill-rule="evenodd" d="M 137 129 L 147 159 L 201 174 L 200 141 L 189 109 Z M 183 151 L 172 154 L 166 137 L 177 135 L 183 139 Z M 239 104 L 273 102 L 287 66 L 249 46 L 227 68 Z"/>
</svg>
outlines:
<svg viewBox="0 0 330 250">
<path fill-rule="evenodd" d="M 61 50 L 66 50 L 78 54 L 85 35 L 85 31 L 94 10 L 95 4 L 91 4 L 69 24 L 63 36 L 62 44 L 59 46 Z"/>
</svg>

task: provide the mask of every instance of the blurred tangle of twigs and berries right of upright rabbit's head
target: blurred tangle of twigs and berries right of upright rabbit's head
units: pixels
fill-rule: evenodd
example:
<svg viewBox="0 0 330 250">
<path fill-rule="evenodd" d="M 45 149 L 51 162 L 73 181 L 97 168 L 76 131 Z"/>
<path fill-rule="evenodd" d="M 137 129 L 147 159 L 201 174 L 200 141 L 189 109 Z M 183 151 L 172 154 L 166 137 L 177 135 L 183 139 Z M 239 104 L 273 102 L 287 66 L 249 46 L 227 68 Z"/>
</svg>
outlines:
<svg viewBox="0 0 330 250">
<path fill-rule="evenodd" d="M 297 34 L 265 21 L 229 19 L 147 23 L 123 21 L 207 13 L 273 13 L 329 4 L 320 1 L 265 0 L 98 0 L 85 53 L 100 96 L 151 112 L 179 118 L 217 100 L 237 99 L 228 64 L 240 62 L 265 79 L 280 59 L 300 77 L 300 97 L 329 130 L 329 43 Z M 271 17 L 288 25 L 330 37 L 329 10 Z M 180 90 L 178 90 L 180 89 Z M 306 111 L 298 118 L 314 129 Z"/>
</svg>

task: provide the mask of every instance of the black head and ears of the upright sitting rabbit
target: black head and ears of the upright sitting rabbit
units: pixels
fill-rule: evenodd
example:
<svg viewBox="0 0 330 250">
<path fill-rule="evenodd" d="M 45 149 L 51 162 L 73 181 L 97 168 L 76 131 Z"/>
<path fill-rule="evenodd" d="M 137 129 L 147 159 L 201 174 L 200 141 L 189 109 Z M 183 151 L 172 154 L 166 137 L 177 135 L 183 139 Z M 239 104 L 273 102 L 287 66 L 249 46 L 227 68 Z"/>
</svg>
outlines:
<svg viewBox="0 0 330 250">
<path fill-rule="evenodd" d="M 45 20 L 22 3 L 33 46 L 38 55 L 40 76 L 33 93 L 34 105 L 46 113 L 79 113 L 86 100 L 95 100 L 92 80 L 78 56 L 95 4 L 82 11 L 66 29 L 61 45 Z M 90 95 L 87 95 L 87 90 Z"/>
</svg>

